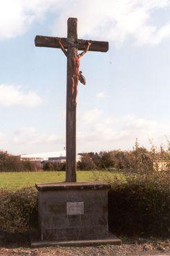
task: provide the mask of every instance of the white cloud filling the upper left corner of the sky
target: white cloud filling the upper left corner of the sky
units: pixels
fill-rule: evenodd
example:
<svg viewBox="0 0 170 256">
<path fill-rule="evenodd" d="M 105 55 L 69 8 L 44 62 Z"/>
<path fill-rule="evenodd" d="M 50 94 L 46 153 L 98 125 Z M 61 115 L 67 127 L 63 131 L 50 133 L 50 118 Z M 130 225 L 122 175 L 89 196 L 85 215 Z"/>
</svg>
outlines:
<svg viewBox="0 0 170 256">
<path fill-rule="evenodd" d="M 25 33 L 36 19 L 41 20 L 57 3 L 57 0 L 1 0 L 0 39 Z"/>
</svg>

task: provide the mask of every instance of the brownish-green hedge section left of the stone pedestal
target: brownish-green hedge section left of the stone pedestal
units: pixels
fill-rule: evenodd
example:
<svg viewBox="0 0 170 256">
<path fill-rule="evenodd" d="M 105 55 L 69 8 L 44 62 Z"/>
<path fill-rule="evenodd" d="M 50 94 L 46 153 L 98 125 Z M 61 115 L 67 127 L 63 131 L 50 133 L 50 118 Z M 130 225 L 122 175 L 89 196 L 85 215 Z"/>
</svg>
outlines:
<svg viewBox="0 0 170 256">
<path fill-rule="evenodd" d="M 26 232 L 37 228 L 37 192 L 26 188 L 1 191 L 0 231 Z"/>
</svg>

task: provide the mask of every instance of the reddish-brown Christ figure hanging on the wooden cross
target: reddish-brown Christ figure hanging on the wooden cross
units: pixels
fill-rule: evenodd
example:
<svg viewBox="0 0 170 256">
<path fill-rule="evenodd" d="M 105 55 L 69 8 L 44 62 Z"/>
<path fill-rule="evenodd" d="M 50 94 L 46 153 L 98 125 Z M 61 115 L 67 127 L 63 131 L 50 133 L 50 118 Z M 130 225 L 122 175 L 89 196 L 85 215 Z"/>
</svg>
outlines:
<svg viewBox="0 0 170 256">
<path fill-rule="evenodd" d="M 59 46 L 64 52 L 65 56 L 68 59 L 68 69 L 70 70 L 70 77 L 71 79 L 71 92 L 73 96 L 73 105 L 77 105 L 77 85 L 78 82 L 82 83 L 83 85 L 86 84 L 86 79 L 82 75 L 82 71 L 79 71 L 79 61 L 84 56 L 84 54 L 88 51 L 89 47 L 91 46 L 91 42 L 88 42 L 86 49 L 82 51 L 82 53 L 78 54 L 78 50 L 75 46 L 71 46 L 66 49 L 64 49 L 64 46 L 62 45 L 61 40 L 59 40 Z"/>
</svg>

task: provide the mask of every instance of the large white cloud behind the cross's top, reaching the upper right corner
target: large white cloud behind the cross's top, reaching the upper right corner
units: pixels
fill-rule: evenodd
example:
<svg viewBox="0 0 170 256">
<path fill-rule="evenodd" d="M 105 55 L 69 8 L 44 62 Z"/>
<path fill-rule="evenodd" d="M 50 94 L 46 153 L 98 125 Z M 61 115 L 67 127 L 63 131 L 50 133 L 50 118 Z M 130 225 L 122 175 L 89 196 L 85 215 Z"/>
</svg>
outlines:
<svg viewBox="0 0 170 256">
<path fill-rule="evenodd" d="M 160 28 L 151 22 L 155 10 L 164 10 L 168 7 L 168 0 L 70 1 L 59 19 L 57 18 L 54 31 L 64 35 L 67 17 L 75 16 L 78 17 L 81 28 L 79 37 L 93 36 L 109 42 L 113 40 L 119 45 L 129 38 L 133 38 L 138 44 L 158 44 L 169 37 L 170 19 Z"/>
</svg>

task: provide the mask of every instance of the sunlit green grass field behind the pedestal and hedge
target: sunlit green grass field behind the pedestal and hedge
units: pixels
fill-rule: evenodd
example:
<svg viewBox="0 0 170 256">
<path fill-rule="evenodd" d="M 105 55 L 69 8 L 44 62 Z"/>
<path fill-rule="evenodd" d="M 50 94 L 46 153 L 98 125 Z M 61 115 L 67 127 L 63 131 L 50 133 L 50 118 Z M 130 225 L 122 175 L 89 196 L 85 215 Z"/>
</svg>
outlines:
<svg viewBox="0 0 170 256">
<path fill-rule="evenodd" d="M 77 171 L 77 181 L 110 181 L 126 180 L 122 173 L 111 171 Z M 0 173 L 0 189 L 17 190 L 22 187 L 35 187 L 35 183 L 63 182 L 65 180 L 64 171 L 44 171 L 44 172 L 17 172 Z"/>
</svg>

